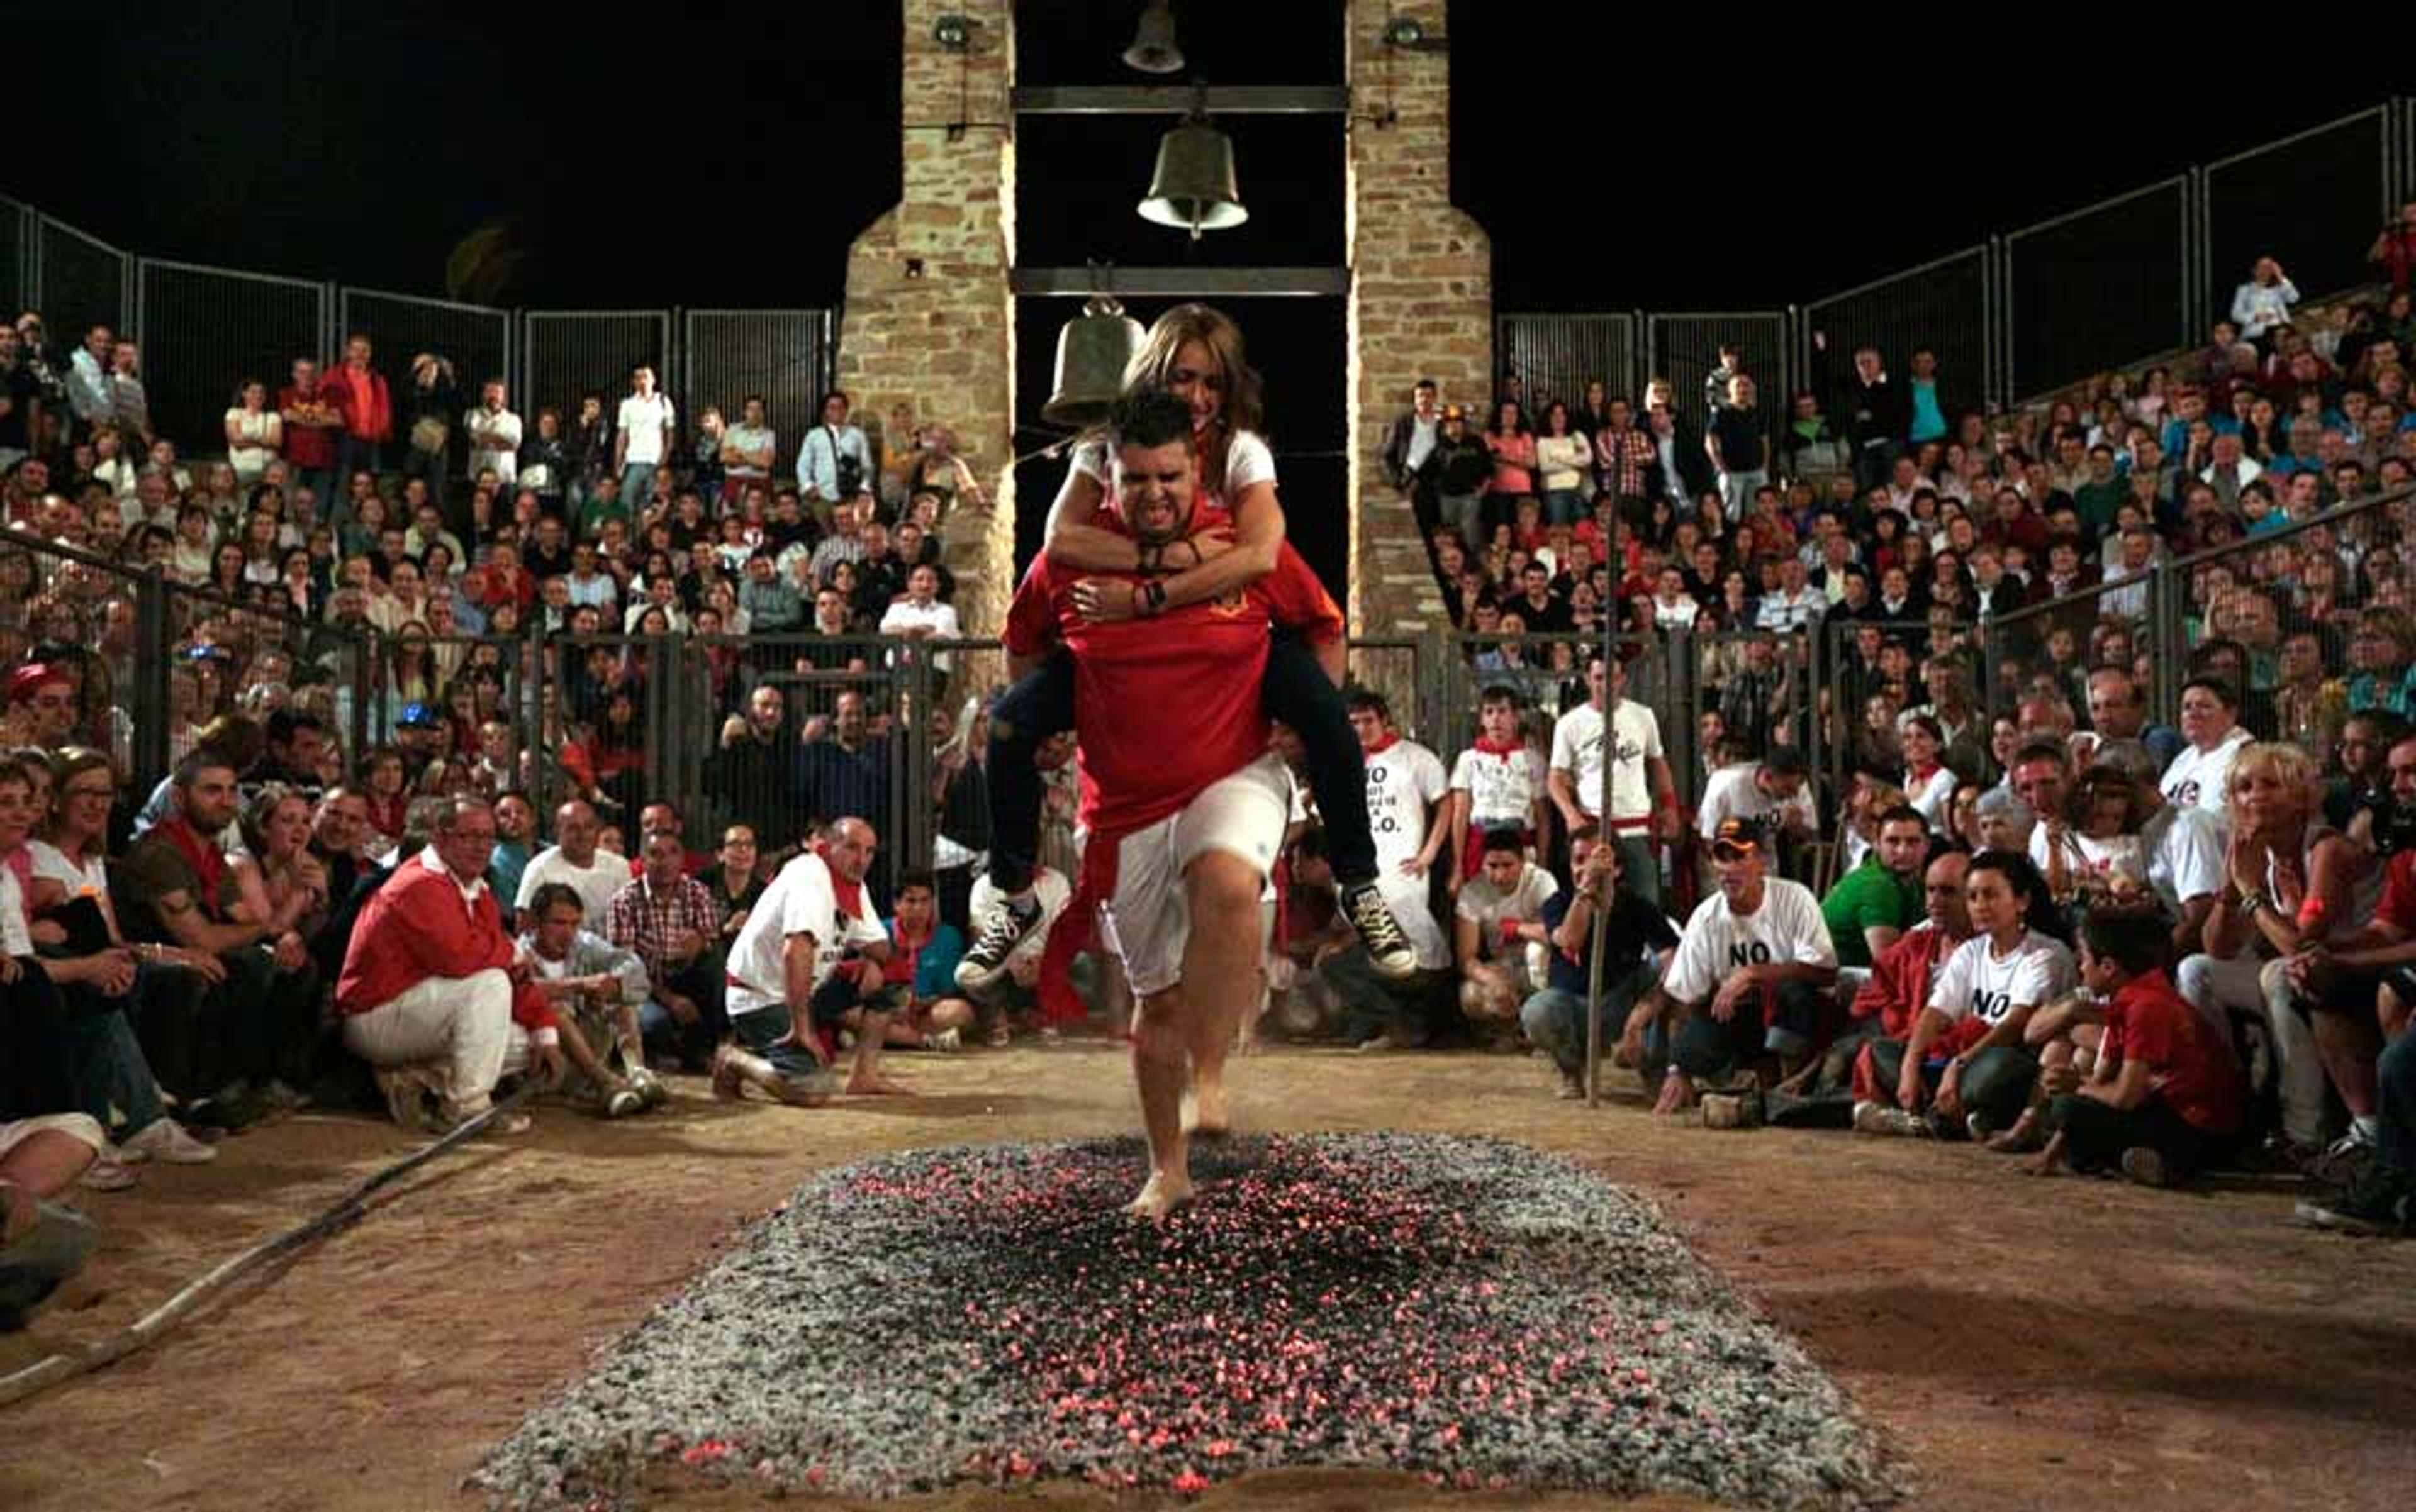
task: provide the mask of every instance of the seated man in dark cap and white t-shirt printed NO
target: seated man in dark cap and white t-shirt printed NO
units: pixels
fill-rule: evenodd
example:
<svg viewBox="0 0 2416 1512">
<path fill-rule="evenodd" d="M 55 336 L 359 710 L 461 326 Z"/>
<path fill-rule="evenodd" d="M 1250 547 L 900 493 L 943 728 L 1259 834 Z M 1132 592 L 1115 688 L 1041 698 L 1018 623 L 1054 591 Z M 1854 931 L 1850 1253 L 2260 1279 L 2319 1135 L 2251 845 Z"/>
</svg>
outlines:
<svg viewBox="0 0 2416 1512">
<path fill-rule="evenodd" d="M 1674 1014 L 1669 1072 L 1655 1113 L 1694 1106 L 1696 1082 L 1752 1070 L 1769 1053 L 1793 1070 L 1812 1048 L 1822 1000 L 1836 988 L 1836 949 L 1812 889 L 1769 877 L 1766 831 L 1725 819 L 1711 838 L 1718 891 L 1679 935 L 1653 1005 L 1631 1014 L 1621 1051 L 1628 1065 L 1645 1027 Z"/>
</svg>

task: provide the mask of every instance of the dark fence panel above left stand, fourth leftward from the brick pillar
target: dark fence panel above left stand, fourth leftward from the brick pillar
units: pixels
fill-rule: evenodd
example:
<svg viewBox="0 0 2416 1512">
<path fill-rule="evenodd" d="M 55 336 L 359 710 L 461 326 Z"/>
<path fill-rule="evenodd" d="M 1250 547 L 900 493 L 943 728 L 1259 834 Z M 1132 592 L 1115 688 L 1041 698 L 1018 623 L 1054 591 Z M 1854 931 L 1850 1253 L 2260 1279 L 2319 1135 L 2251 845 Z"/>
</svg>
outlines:
<svg viewBox="0 0 2416 1512">
<path fill-rule="evenodd" d="M 244 379 L 273 406 L 292 360 L 326 348 L 329 307 L 324 283 L 140 258 L 133 328 L 152 432 L 215 452 Z"/>
</svg>

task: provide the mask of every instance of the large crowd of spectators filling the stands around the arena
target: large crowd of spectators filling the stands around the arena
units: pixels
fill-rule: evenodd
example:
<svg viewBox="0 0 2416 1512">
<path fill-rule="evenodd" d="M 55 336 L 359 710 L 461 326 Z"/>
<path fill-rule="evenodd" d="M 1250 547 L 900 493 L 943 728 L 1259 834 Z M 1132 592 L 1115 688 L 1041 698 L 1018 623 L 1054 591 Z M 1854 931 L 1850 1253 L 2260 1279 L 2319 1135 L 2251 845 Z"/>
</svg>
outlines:
<svg viewBox="0 0 2416 1512">
<path fill-rule="evenodd" d="M 1406 734 L 1278 638 L 1297 785 L 1244 1031 L 1524 1046 L 1578 1094 L 1597 1029 L 1662 1111 L 2148 1181 L 2276 1162 L 2339 1184 L 2324 1220 L 2404 1225 L 2416 314 L 2295 304 L 2261 263 L 2206 350 L 2013 415 L 1928 350 L 1853 353 L 1783 415 L 1742 350 L 1684 396 L 1510 377 L 1471 413 L 1418 384 L 1382 461 L 1479 722 Z M 1256 406 L 1230 324 L 1196 331 L 1215 372 L 1174 343 L 1157 382 Z M 12 1263 L 48 1246 L 29 1275 L 89 1244 L 46 1198 L 309 1101 L 440 1130 L 517 1077 L 623 1118 L 693 1070 L 819 1104 L 904 1092 L 889 1051 L 1126 1012 L 1070 715 L 1032 679 L 916 710 L 889 676 L 957 638 L 940 527 L 988 507 L 945 425 L 875 440 L 829 394 L 776 435 L 650 367 L 524 418 L 469 377 L 358 333 L 237 374 L 222 435 L 162 437 L 133 343 L 0 328 L 0 1193 Z M 1087 524 L 1104 459 L 1068 481 L 1051 556 L 1123 577 L 1085 613 L 1276 560 L 1276 459 L 1225 418 L 1227 517 L 1181 551 Z M 2141 572 L 2235 543 L 2157 613 Z M 1628 696 L 1672 630 L 1694 770 Z M 703 804 L 650 783 L 650 667 L 614 633 L 705 647 Z M 135 790 L 126 688 L 162 657 L 174 770 Z M 930 870 L 875 860 L 894 742 L 930 742 Z"/>
</svg>

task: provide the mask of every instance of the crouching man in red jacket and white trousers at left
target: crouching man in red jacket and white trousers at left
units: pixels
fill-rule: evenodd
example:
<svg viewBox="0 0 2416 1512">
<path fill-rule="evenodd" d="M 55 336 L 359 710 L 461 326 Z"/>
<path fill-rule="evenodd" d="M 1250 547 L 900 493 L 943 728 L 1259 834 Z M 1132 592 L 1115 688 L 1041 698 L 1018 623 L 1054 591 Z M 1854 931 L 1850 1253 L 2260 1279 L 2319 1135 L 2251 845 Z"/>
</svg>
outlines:
<svg viewBox="0 0 2416 1512">
<path fill-rule="evenodd" d="M 563 1072 L 561 1027 L 486 884 L 493 853 L 486 799 L 447 799 L 435 843 L 370 896 L 343 956 L 343 1043 L 379 1068 L 394 1121 L 411 1128 L 430 1126 L 416 1070 L 425 1063 L 447 1128 L 483 1113 L 507 1072 Z"/>
</svg>

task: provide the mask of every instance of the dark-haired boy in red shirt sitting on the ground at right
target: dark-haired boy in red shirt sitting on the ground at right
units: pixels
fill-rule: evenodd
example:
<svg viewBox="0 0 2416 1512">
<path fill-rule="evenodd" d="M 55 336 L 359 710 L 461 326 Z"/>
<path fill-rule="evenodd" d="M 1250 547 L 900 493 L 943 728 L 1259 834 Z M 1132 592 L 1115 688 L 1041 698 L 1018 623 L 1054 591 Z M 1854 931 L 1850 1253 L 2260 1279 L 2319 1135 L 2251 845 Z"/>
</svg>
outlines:
<svg viewBox="0 0 2416 1512">
<path fill-rule="evenodd" d="M 2107 1005 L 2090 1080 L 2046 1104 L 2046 1150 L 2032 1174 L 2121 1167 L 2172 1186 L 2230 1155 L 2242 1087 L 2230 1043 L 2172 990 L 2170 935 L 2141 913 L 2095 911 L 2080 925 L 2080 985 Z"/>
</svg>

